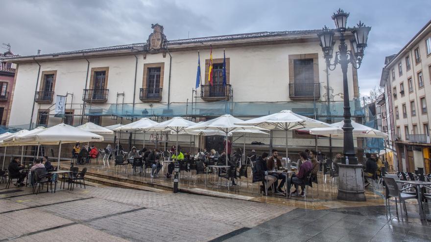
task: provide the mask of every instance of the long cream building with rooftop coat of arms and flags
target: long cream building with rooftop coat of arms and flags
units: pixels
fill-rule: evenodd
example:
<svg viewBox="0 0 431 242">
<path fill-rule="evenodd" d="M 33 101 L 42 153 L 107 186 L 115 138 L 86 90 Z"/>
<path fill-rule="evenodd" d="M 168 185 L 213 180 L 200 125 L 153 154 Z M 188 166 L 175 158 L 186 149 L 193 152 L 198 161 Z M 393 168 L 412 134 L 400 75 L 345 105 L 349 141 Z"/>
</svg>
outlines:
<svg viewBox="0 0 431 242">
<path fill-rule="evenodd" d="M 342 72 L 337 67 L 327 75 L 316 35 L 320 30 L 168 41 L 163 26 L 152 28 L 146 43 L 7 59 L 19 66 L 9 125 L 28 129 L 62 122 L 54 117 L 55 95 L 68 95 L 63 121 L 71 125 L 124 124 L 143 116 L 159 121 L 172 116 L 202 121 L 224 113 L 251 118 L 285 109 L 322 121 L 327 121 L 329 112 L 334 121 L 342 118 Z M 207 78 L 210 46 L 214 86 Z M 226 86 L 222 84 L 224 49 Z M 202 83 L 194 91 L 198 50 Z M 358 75 L 351 66 L 348 81 L 352 114 L 363 115 L 355 109 Z M 274 132 L 274 145 L 280 150 L 284 135 Z M 314 136 L 293 132 L 289 137 L 292 153 L 314 146 Z M 189 139 L 182 142 L 187 145 Z M 207 146 L 220 143 L 219 139 Z M 247 139 L 248 144 L 251 141 L 269 144 L 268 138 Z M 332 142 L 342 146 L 342 140 Z M 329 150 L 329 143 L 319 138 L 319 149 Z"/>
</svg>

